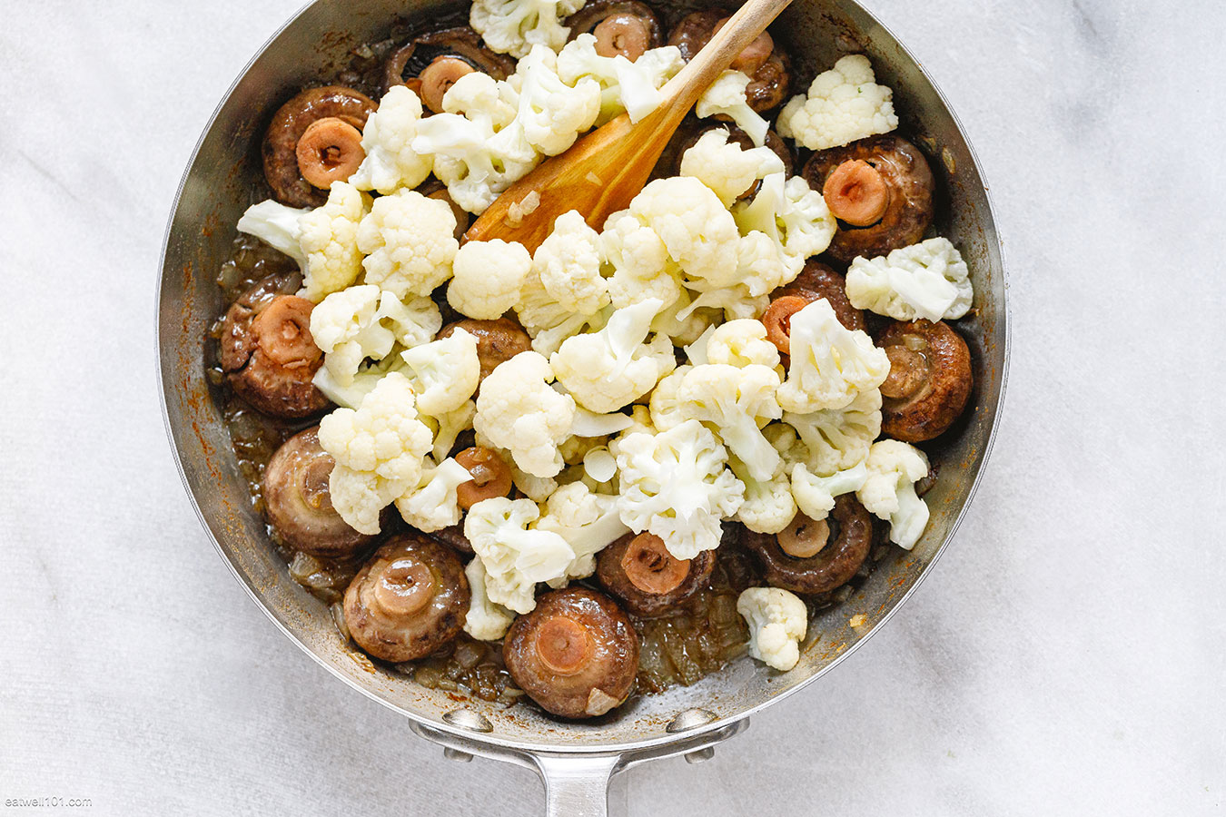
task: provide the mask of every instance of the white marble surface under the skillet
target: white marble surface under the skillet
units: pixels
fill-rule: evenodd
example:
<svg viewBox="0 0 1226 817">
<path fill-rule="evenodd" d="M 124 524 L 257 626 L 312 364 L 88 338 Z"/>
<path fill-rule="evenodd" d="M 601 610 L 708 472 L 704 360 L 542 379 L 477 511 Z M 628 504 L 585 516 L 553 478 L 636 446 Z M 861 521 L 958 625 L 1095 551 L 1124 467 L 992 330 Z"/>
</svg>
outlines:
<svg viewBox="0 0 1226 817">
<path fill-rule="evenodd" d="M 172 464 L 164 218 L 216 100 L 297 2 L 0 0 L 0 806 L 541 813 L 533 775 L 444 761 L 277 633 Z M 999 442 L 904 615 L 712 762 L 634 769 L 619 799 L 1221 813 L 1226 10 L 870 5 L 993 184 L 1015 338 Z"/>
</svg>

